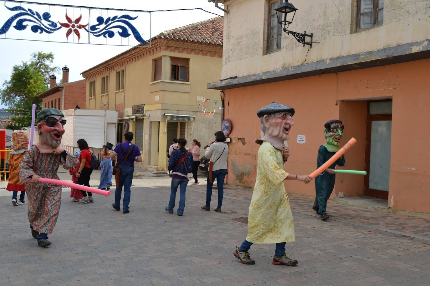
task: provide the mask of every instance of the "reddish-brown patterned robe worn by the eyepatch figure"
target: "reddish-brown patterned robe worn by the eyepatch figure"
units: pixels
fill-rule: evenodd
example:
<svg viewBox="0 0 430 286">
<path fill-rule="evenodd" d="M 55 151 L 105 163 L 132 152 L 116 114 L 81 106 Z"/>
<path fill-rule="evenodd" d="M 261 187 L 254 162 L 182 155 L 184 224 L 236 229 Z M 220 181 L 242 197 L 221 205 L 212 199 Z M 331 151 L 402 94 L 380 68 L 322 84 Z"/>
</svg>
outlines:
<svg viewBox="0 0 430 286">
<path fill-rule="evenodd" d="M 60 161 L 61 160 L 61 161 Z M 58 166 L 65 169 L 79 164 L 79 160 L 67 154 L 66 161 L 61 155 L 41 154 L 33 145 L 28 153 L 22 157 L 19 164 L 19 178 L 21 182 L 38 175 L 42 178 L 58 180 Z M 51 234 L 57 223 L 58 212 L 61 204 L 61 186 L 45 183 L 27 183 L 25 187 L 28 197 L 28 221 L 34 230 Z"/>
</svg>

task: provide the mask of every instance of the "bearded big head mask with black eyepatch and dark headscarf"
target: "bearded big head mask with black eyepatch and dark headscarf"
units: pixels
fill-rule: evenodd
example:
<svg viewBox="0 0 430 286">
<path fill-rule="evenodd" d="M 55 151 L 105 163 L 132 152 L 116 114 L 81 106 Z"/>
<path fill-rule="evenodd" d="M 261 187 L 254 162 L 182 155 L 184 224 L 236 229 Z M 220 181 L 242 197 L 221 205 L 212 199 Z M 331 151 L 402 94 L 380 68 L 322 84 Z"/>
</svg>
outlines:
<svg viewBox="0 0 430 286">
<path fill-rule="evenodd" d="M 55 108 L 45 108 L 37 114 L 37 133 L 39 143 L 37 148 L 40 153 L 50 153 L 61 144 L 64 134 L 64 114 Z"/>
</svg>

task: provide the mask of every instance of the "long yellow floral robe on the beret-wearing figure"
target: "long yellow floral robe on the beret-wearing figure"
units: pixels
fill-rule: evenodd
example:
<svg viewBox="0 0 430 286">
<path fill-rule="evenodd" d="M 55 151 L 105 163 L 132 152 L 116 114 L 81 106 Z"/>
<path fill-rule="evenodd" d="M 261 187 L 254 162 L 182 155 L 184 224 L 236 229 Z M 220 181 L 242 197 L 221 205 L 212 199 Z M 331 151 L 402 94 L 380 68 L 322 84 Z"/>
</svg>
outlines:
<svg viewBox="0 0 430 286">
<path fill-rule="evenodd" d="M 268 142 L 258 149 L 258 168 L 248 215 L 248 236 L 252 243 L 294 241 L 294 222 L 284 188 L 282 151 Z"/>
</svg>

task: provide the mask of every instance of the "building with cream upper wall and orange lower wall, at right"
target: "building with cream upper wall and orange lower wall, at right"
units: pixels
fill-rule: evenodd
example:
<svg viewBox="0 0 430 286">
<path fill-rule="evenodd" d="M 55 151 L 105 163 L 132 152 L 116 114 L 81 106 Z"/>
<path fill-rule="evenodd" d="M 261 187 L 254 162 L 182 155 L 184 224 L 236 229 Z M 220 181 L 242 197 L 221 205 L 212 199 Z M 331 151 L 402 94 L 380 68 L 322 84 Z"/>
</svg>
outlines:
<svg viewBox="0 0 430 286">
<path fill-rule="evenodd" d="M 234 126 L 227 183 L 255 184 L 255 113 L 275 101 L 295 108 L 287 171 L 315 170 L 324 123 L 340 119 L 341 144 L 357 140 L 345 169 L 367 175 L 336 175 L 332 197 L 372 196 L 388 211 L 429 214 L 430 0 L 289 0 L 297 11 L 288 30 L 313 33 L 312 47 L 280 27 L 282 0 L 219 2 L 227 11 L 223 67 L 208 88 L 225 93 Z M 285 187 L 315 196 L 313 183 Z"/>
</svg>

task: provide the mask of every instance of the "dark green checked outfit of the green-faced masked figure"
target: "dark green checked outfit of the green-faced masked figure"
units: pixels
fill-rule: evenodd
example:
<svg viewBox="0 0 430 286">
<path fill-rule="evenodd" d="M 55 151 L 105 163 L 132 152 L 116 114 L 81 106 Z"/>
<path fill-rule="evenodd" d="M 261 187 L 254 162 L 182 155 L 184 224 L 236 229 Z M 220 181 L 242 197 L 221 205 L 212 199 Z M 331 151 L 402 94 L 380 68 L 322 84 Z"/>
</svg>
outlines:
<svg viewBox="0 0 430 286">
<path fill-rule="evenodd" d="M 318 159 L 316 160 L 316 168 L 318 169 L 322 164 L 326 163 L 336 152 L 329 152 L 324 145 L 320 146 L 318 149 Z M 333 163 L 328 169 L 335 169 L 336 165 L 345 166 L 345 156 L 343 155 L 335 163 Z M 335 187 L 335 174 L 329 174 L 329 172 L 322 172 L 322 174 L 316 176 L 315 178 L 315 193 L 316 198 L 313 203 L 313 208 L 318 206 L 319 213 L 325 213 L 327 209 L 327 200 L 332 195 L 333 189 Z"/>
</svg>

